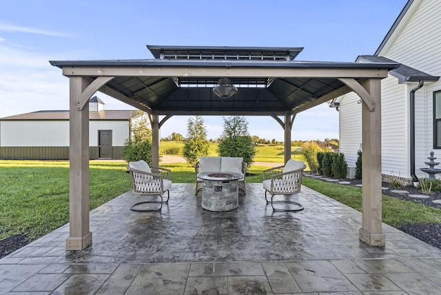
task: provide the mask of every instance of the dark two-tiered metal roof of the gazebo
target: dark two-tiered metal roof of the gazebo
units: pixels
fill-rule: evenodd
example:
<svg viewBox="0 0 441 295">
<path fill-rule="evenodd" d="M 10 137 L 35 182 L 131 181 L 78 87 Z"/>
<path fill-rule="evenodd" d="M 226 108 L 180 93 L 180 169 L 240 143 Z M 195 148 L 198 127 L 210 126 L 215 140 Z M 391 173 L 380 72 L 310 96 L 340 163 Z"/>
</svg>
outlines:
<svg viewBox="0 0 441 295">
<path fill-rule="evenodd" d="M 391 70 L 397 63 L 294 61 L 302 48 L 183 47 L 147 45 L 155 59 L 50 61 L 66 76 L 114 76 L 101 92 L 157 114 L 282 115 L 350 92 L 339 78 Z M 121 70 L 124 68 L 125 70 Z M 351 70 L 351 74 L 346 74 Z M 297 74 L 298 73 L 298 74 Z M 349 72 L 348 72 L 349 73 Z M 366 77 L 367 77 L 366 76 Z M 222 77 L 238 88 L 220 99 Z"/>
</svg>

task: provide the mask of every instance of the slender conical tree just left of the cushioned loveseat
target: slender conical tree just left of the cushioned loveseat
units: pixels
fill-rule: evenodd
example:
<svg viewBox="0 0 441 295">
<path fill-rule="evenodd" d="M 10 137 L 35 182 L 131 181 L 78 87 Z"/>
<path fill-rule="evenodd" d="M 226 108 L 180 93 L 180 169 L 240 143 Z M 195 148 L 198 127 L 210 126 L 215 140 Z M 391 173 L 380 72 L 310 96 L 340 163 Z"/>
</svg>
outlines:
<svg viewBox="0 0 441 295">
<path fill-rule="evenodd" d="M 194 165 L 200 156 L 208 155 L 209 143 L 207 141 L 207 130 L 201 116 L 187 121 L 187 138 L 184 141 L 183 157 L 187 163 Z"/>
</svg>

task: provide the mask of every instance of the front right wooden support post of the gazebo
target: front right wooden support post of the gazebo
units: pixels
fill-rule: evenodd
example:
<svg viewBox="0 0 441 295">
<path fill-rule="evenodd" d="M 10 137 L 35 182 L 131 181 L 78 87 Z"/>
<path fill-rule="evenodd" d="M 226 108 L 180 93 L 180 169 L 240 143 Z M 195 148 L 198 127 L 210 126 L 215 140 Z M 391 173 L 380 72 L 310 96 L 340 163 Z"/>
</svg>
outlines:
<svg viewBox="0 0 441 295">
<path fill-rule="evenodd" d="M 371 246 L 384 246 L 381 190 L 381 80 L 362 83 L 375 110 L 362 103 L 362 228 L 360 240 Z"/>
</svg>

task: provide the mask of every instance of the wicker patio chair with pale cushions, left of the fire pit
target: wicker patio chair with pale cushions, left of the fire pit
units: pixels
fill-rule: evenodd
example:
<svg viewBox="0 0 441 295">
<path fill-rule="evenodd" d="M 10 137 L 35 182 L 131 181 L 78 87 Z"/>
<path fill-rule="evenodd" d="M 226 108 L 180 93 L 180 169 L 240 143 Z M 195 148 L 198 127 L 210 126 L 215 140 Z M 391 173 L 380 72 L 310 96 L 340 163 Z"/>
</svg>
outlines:
<svg viewBox="0 0 441 295">
<path fill-rule="evenodd" d="M 132 191 L 140 195 L 157 195 L 161 201 L 141 201 L 132 205 L 130 210 L 136 212 L 161 211 L 163 203 L 170 199 L 170 187 L 172 187 L 172 171 L 163 167 L 149 166 L 145 161 L 130 162 L 127 170 L 132 177 Z M 167 199 L 163 194 L 167 192 Z M 145 203 L 159 203 L 158 209 L 138 209 L 136 206 Z"/>
</svg>

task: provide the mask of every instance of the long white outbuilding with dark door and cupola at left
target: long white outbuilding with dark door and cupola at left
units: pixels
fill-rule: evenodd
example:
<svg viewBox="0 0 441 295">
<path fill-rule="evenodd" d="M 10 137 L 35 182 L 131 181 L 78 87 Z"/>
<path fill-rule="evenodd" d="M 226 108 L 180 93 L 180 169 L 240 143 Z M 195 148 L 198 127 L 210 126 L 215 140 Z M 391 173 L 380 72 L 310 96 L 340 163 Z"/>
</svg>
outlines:
<svg viewBox="0 0 441 295">
<path fill-rule="evenodd" d="M 90 159 L 121 159 L 134 111 L 105 111 L 103 104 L 90 99 Z M 69 159 L 69 111 L 0 118 L 0 159 Z"/>
</svg>

